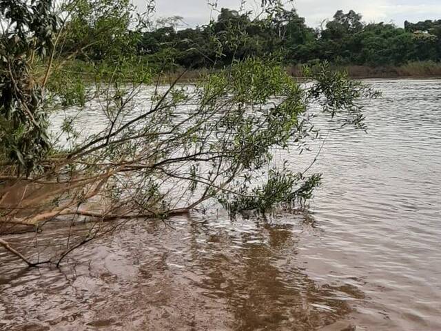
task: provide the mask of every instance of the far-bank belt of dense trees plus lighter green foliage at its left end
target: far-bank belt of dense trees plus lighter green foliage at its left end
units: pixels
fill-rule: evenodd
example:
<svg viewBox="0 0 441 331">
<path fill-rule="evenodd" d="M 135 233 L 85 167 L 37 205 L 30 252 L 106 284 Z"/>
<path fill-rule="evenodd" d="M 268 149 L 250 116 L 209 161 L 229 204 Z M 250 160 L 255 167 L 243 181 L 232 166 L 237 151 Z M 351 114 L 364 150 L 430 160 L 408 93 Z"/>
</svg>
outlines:
<svg viewBox="0 0 441 331">
<path fill-rule="evenodd" d="M 130 66 L 169 73 L 272 57 L 291 68 L 327 61 L 353 76 L 441 74 L 441 20 L 406 21 L 404 28 L 398 28 L 390 23 L 364 23 L 361 14 L 338 10 L 320 28 L 310 28 L 295 9 L 273 1 L 260 14 L 222 8 L 205 26 L 179 29 L 180 17 L 154 21 L 147 15 L 148 23 L 140 26 L 134 23 L 134 8 L 127 10 L 128 6 L 125 3 L 122 12 L 115 1 L 103 5 L 96 0 L 76 8 L 66 54 L 81 46 L 75 58 L 84 62 L 83 68 L 131 57 Z"/>
</svg>

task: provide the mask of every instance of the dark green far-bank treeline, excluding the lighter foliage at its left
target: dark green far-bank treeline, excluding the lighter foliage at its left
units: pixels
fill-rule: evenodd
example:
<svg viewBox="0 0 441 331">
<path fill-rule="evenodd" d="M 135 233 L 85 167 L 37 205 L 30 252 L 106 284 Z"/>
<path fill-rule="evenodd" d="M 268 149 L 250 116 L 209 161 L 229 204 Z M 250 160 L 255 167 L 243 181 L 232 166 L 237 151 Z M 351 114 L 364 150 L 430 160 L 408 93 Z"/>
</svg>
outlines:
<svg viewBox="0 0 441 331">
<path fill-rule="evenodd" d="M 441 59 L 441 20 L 406 21 L 398 28 L 364 23 L 353 10 L 338 10 L 331 21 L 310 28 L 294 9 L 278 8 L 256 19 L 251 13 L 223 8 L 207 26 L 179 30 L 176 21 L 165 20 L 137 35 L 136 49 L 130 51 L 158 66 L 194 69 L 267 54 L 288 65 L 329 61 L 336 66 L 402 66 Z M 104 53 L 92 48 L 88 57 L 100 59 Z"/>
</svg>

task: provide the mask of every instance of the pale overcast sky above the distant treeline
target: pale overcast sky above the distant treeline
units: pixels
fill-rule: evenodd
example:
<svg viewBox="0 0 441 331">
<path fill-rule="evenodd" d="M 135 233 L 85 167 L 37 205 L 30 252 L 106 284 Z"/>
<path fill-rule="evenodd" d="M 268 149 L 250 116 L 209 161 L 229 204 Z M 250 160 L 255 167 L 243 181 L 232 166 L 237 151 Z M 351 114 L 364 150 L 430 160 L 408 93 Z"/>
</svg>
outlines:
<svg viewBox="0 0 441 331">
<path fill-rule="evenodd" d="M 145 0 L 133 0 L 143 8 Z M 214 1 L 214 0 L 211 0 Z M 218 9 L 238 9 L 240 0 L 218 0 Z M 256 8 L 260 0 L 247 0 L 247 9 Z M 423 21 L 441 19 L 441 0 L 294 0 L 300 16 L 307 24 L 316 27 L 323 19 L 331 18 L 339 10 L 356 10 L 366 22 L 393 22 L 403 26 L 404 20 Z M 209 21 L 210 8 L 207 0 L 156 0 L 156 14 L 159 17 L 178 15 L 184 18 L 189 27 L 203 25 Z M 214 14 L 217 17 L 217 13 Z"/>
</svg>

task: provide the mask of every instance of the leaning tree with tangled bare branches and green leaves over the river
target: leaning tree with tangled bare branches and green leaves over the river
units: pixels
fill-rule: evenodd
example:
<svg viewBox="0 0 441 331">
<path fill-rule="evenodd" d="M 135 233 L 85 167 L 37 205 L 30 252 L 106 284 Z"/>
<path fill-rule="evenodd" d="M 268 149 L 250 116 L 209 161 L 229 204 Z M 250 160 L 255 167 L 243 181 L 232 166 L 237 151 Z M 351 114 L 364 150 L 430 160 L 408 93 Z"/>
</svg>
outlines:
<svg viewBox="0 0 441 331">
<path fill-rule="evenodd" d="M 192 88 L 178 85 L 179 79 L 161 87 L 163 72 L 152 74 L 141 57 L 121 48 L 132 50 L 139 39 L 124 37 L 141 35 L 127 30 L 128 18 L 133 26 L 145 26 L 133 21 L 126 1 L 112 0 L 112 10 L 99 12 L 92 4 L 107 8 L 109 1 L 83 0 L 84 7 L 68 1 L 59 10 L 49 0 L 0 3 L 9 28 L 1 36 L 3 68 L 8 69 L 1 73 L 1 123 L 14 123 L 0 141 L 0 230 L 30 227 L 37 230 L 37 240 L 45 224 L 67 225 L 68 238 L 57 243 L 57 254 L 51 256 L 43 254 L 38 240 L 34 254 L 26 256 L 0 240 L 31 266 L 59 265 L 72 250 L 128 219 L 165 219 L 207 201 L 218 201 L 230 212 L 267 212 L 280 204 L 304 203 L 320 175 L 276 167 L 271 150 L 301 146 L 317 134 L 305 120 L 314 109 L 311 103 L 362 126 L 356 100 L 376 96 L 346 74 L 331 72 L 327 64 L 305 69 L 314 82 L 305 88 L 274 59 L 235 56 L 229 68 L 201 77 Z M 114 10 L 125 14 L 123 23 L 112 26 L 114 39 L 108 41 L 104 27 L 119 17 Z M 247 19 L 232 16 L 240 23 L 229 28 L 247 29 Z M 80 22 L 94 29 L 94 42 L 83 34 Z M 228 46 L 234 36 L 212 38 Z M 12 45 L 11 40 L 18 42 Z M 83 65 L 71 70 L 67 59 L 81 59 Z M 43 77 L 34 76 L 41 69 Z M 147 93 L 145 84 L 150 83 L 154 88 Z M 143 106 L 136 108 L 141 99 Z M 94 105 L 102 130 L 81 135 L 77 119 Z M 73 110 L 77 113 L 65 117 L 61 132 L 50 137 L 48 126 L 36 120 Z M 21 156 L 11 152 L 10 139 L 16 138 L 10 135 L 28 139 Z M 40 137 L 48 139 L 41 143 Z M 271 171 L 265 173 L 267 168 Z M 72 237 L 70 228 L 84 217 L 88 225 Z"/>
</svg>

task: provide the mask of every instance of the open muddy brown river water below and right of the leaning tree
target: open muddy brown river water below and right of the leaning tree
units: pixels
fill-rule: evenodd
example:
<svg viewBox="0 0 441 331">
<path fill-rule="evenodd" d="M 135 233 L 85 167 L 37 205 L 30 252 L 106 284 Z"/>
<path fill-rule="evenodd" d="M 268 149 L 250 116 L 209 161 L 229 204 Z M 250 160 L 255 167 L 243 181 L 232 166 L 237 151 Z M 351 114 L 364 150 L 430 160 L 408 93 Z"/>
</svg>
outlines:
<svg viewBox="0 0 441 331">
<path fill-rule="evenodd" d="M 60 270 L 0 250 L 0 330 L 441 330 L 441 81 L 367 82 L 368 134 L 323 125 L 311 214 L 132 221 Z"/>
</svg>

